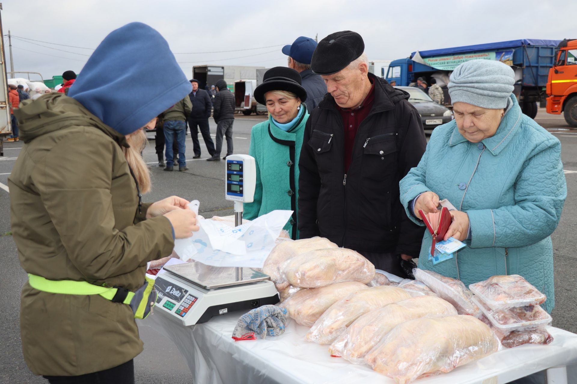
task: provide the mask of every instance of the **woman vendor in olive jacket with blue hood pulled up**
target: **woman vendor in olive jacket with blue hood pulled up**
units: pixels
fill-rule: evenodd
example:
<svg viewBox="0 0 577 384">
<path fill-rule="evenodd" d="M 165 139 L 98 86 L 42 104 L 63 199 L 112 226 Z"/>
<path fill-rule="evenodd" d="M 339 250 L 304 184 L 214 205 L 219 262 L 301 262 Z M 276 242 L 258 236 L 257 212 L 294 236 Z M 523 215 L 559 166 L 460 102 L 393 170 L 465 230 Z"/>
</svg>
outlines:
<svg viewBox="0 0 577 384">
<path fill-rule="evenodd" d="M 8 179 L 10 220 L 29 276 L 20 333 L 28 367 L 50 383 L 134 383 L 143 342 L 131 292 L 150 287 L 149 261 L 198 230 L 185 199 L 141 202 L 143 128 L 190 88 L 167 41 L 133 22 L 100 43 L 68 96 L 14 111 L 24 148 Z"/>
</svg>

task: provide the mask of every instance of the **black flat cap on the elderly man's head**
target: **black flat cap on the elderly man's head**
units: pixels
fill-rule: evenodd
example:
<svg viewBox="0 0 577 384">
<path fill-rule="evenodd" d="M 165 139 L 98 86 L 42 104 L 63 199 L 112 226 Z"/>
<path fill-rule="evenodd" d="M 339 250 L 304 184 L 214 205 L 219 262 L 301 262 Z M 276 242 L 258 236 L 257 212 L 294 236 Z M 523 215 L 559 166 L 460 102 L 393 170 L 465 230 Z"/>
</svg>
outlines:
<svg viewBox="0 0 577 384">
<path fill-rule="evenodd" d="M 365 52 L 361 35 L 353 31 L 331 33 L 319 41 L 310 68 L 317 75 L 332 75 L 346 68 Z"/>
</svg>

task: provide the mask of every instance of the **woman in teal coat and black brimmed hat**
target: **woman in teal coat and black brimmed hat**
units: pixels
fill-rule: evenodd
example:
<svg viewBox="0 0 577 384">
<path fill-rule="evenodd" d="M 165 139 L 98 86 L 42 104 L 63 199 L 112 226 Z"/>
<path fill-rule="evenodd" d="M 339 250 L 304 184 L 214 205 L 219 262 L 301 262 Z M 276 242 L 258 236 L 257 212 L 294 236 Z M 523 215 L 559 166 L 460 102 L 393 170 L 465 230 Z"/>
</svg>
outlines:
<svg viewBox="0 0 577 384">
<path fill-rule="evenodd" d="M 275 67 L 265 72 L 254 98 L 267 106 L 267 121 L 250 133 L 249 154 L 256 160 L 254 202 L 245 204 L 244 216 L 254 219 L 274 210 L 291 210 L 284 229 L 298 239 L 298 158 L 305 132 L 306 90 L 294 69 Z"/>
</svg>

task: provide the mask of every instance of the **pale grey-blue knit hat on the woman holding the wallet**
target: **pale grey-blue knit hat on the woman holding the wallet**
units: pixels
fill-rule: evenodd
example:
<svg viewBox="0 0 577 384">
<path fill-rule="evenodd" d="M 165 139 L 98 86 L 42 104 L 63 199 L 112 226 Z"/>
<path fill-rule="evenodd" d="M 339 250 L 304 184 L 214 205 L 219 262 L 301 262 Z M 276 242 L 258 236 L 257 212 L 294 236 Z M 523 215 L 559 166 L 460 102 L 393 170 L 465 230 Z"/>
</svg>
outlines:
<svg viewBox="0 0 577 384">
<path fill-rule="evenodd" d="M 507 107 L 515 72 L 494 60 L 470 60 L 455 68 L 449 78 L 451 102 L 461 101 L 487 109 Z"/>
</svg>

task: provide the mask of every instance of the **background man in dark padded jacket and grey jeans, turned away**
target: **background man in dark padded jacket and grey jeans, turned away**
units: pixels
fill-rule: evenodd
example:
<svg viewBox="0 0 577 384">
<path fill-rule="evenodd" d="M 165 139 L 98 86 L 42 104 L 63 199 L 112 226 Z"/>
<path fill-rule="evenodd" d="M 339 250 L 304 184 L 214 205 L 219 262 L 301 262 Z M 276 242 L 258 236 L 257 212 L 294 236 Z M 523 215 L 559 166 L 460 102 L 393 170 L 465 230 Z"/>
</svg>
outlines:
<svg viewBox="0 0 577 384">
<path fill-rule="evenodd" d="M 212 117 L 216 125 L 216 149 L 215 154 L 208 161 L 220 160 L 223 136 L 226 136 L 226 156 L 233 154 L 233 123 L 234 123 L 234 94 L 228 90 L 226 81 L 220 79 L 216 82 L 216 96 L 214 98 L 214 111 Z M 226 159 L 226 156 L 223 159 Z"/>
</svg>

